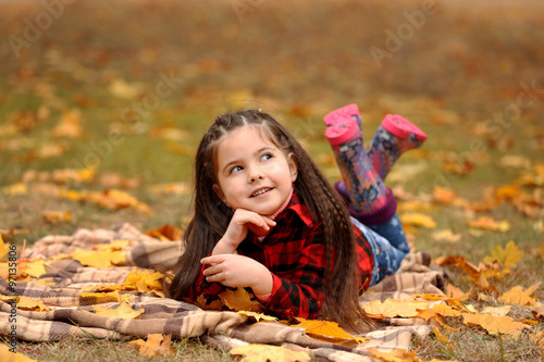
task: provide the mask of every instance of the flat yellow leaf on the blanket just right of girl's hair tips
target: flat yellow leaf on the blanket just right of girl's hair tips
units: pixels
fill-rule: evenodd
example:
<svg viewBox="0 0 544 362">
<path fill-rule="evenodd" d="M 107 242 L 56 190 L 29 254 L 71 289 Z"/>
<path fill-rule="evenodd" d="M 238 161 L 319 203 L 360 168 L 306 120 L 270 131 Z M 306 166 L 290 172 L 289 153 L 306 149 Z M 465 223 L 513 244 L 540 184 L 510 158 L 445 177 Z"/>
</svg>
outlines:
<svg viewBox="0 0 544 362">
<path fill-rule="evenodd" d="M 413 298 L 407 299 L 386 299 L 385 301 L 373 300 L 364 304 L 367 314 L 373 319 L 391 319 L 395 316 L 411 317 L 419 314 L 420 311 L 428 309 L 429 304 L 423 301 L 417 301 Z"/>
</svg>

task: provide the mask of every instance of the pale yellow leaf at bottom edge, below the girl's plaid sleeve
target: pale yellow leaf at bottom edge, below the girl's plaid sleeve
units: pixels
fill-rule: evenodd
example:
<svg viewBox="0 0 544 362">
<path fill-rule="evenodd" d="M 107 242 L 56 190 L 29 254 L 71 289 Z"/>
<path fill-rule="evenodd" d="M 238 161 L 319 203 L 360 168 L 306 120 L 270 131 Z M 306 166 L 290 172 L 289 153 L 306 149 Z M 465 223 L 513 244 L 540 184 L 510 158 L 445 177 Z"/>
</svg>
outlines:
<svg viewBox="0 0 544 362">
<path fill-rule="evenodd" d="M 228 352 L 233 355 L 242 355 L 244 362 L 307 362 L 310 361 L 308 352 L 300 350 L 295 351 L 286 347 L 269 346 L 269 345 L 249 345 L 239 346 L 231 349 Z"/>
</svg>

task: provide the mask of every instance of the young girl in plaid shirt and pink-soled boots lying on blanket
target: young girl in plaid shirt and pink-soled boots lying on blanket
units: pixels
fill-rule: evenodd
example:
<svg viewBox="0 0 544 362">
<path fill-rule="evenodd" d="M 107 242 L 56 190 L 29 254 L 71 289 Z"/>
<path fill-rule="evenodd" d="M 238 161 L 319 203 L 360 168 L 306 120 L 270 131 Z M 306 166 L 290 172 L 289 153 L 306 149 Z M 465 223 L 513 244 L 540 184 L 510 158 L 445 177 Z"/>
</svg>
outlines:
<svg viewBox="0 0 544 362">
<path fill-rule="evenodd" d="M 360 222 L 271 115 L 222 115 L 197 151 L 195 215 L 170 297 L 210 302 L 226 287 L 250 288 L 280 319 L 321 316 L 369 330 L 360 291 L 394 273 L 409 252 L 382 179 L 424 134 L 398 116 L 384 121 L 369 157 L 355 104 L 327 114 L 325 123 L 344 178 L 336 188 Z"/>
</svg>

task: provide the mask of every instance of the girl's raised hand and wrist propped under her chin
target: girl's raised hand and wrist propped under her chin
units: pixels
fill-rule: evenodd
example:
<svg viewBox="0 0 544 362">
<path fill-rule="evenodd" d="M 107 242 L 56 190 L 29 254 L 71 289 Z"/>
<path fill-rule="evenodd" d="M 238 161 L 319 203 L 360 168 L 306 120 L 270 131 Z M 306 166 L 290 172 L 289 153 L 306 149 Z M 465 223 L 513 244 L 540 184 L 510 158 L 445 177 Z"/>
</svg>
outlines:
<svg viewBox="0 0 544 362">
<path fill-rule="evenodd" d="M 246 238 L 248 229 L 257 236 L 265 236 L 270 228 L 275 226 L 275 221 L 256 212 L 237 209 L 228 224 L 225 235 L 213 248 L 212 255 L 232 253 Z"/>
</svg>

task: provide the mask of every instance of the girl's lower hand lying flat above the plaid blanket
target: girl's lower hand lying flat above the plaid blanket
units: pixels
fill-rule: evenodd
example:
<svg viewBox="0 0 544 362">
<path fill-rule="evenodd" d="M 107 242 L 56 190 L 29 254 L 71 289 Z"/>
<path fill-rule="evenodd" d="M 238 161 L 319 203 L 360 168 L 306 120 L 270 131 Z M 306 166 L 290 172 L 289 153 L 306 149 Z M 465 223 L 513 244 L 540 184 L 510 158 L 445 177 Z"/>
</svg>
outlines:
<svg viewBox="0 0 544 362">
<path fill-rule="evenodd" d="M 227 287 L 249 287 L 256 295 L 272 292 L 272 274 L 258 261 L 238 254 L 220 254 L 203 258 L 211 264 L 203 275 L 208 282 L 219 282 Z"/>
</svg>

